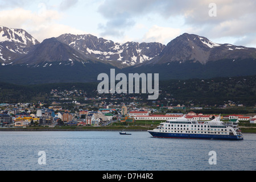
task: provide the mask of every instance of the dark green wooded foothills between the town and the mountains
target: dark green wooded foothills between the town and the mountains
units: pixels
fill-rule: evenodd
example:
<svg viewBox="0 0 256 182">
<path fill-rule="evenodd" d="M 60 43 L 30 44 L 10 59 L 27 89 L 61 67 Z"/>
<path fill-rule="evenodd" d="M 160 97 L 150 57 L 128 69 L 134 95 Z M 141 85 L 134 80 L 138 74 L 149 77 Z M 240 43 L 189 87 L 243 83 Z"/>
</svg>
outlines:
<svg viewBox="0 0 256 182">
<path fill-rule="evenodd" d="M 148 106 L 158 103 L 162 106 L 183 104 L 185 106 L 219 106 L 229 104 L 242 104 L 255 106 L 256 104 L 256 76 L 218 77 L 210 79 L 193 78 L 189 80 L 159 81 L 158 100 L 147 100 L 148 94 L 99 94 L 98 82 L 72 82 L 39 85 L 14 85 L 0 82 L 0 103 L 18 102 L 48 102 L 52 100 L 52 89 L 59 92 L 63 90 L 83 90 L 85 96 L 76 97 L 79 102 L 88 98 L 122 98 L 117 102 L 144 102 Z M 87 101 L 88 102 L 88 101 Z M 94 102 L 94 101 L 93 101 Z"/>
</svg>

